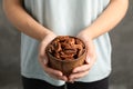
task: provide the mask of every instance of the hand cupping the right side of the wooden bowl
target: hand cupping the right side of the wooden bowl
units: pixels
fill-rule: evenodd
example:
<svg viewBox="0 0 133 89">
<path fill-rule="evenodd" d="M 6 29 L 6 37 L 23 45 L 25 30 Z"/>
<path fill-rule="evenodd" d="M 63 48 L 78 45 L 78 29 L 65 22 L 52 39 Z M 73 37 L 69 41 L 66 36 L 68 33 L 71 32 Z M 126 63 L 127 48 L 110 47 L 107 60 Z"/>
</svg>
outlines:
<svg viewBox="0 0 133 89">
<path fill-rule="evenodd" d="M 72 73 L 69 77 L 69 81 L 73 82 L 75 79 L 82 78 L 89 73 L 89 70 L 92 68 L 95 62 L 96 55 L 92 39 L 86 34 L 85 31 L 81 31 L 78 36 L 86 46 L 88 53 L 85 63 L 83 66 L 76 67 L 73 69 Z"/>
</svg>

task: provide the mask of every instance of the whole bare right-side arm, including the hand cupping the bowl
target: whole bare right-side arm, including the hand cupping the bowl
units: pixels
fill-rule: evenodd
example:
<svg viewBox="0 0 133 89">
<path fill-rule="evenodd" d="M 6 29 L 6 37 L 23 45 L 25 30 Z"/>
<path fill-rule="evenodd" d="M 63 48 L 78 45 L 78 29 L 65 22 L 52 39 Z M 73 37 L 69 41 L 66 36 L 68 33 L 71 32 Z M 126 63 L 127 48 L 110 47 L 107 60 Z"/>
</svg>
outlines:
<svg viewBox="0 0 133 89">
<path fill-rule="evenodd" d="M 74 81 L 74 79 L 89 73 L 96 58 L 92 40 L 113 29 L 125 16 L 127 6 L 129 0 L 111 0 L 102 14 L 90 27 L 78 34 L 78 38 L 82 39 L 88 48 L 86 65 L 75 68 L 69 77 L 70 81 Z"/>
</svg>

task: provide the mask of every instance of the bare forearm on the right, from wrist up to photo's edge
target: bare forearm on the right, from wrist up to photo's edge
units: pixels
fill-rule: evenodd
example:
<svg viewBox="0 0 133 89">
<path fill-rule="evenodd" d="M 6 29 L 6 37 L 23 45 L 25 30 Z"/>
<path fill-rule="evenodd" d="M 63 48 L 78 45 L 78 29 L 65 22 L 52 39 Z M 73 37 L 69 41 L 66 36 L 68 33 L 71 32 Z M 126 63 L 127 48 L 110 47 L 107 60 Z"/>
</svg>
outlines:
<svg viewBox="0 0 133 89">
<path fill-rule="evenodd" d="M 85 28 L 85 33 L 94 39 L 110 31 L 125 16 L 127 6 L 127 0 L 111 0 L 103 13 L 90 27 Z"/>
</svg>

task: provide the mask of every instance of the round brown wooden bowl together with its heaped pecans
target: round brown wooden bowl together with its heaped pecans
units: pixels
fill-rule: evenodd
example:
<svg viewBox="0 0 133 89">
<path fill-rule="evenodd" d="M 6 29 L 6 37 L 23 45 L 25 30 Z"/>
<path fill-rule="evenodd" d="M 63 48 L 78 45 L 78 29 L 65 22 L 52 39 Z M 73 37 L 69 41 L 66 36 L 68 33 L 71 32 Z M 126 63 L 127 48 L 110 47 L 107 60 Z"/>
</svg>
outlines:
<svg viewBox="0 0 133 89">
<path fill-rule="evenodd" d="M 70 76 L 75 67 L 82 66 L 86 58 L 86 48 L 83 41 L 71 36 L 54 38 L 45 49 L 49 66 Z"/>
</svg>

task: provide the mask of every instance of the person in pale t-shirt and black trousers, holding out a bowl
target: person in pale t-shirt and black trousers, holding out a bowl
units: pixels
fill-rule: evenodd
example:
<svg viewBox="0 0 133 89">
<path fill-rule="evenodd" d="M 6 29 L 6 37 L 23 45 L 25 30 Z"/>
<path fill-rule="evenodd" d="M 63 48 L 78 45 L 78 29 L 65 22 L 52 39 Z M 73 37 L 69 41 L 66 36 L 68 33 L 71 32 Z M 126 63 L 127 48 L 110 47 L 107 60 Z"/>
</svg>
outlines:
<svg viewBox="0 0 133 89">
<path fill-rule="evenodd" d="M 125 16 L 127 4 L 129 0 L 3 0 L 7 17 L 22 32 L 24 89 L 63 89 L 65 82 L 68 89 L 108 89 L 108 32 Z M 73 69 L 69 78 L 48 67 L 44 49 L 57 36 L 78 37 L 88 47 L 86 63 Z"/>
</svg>

